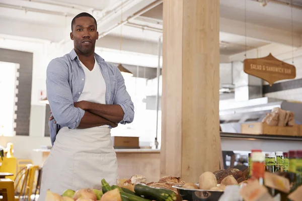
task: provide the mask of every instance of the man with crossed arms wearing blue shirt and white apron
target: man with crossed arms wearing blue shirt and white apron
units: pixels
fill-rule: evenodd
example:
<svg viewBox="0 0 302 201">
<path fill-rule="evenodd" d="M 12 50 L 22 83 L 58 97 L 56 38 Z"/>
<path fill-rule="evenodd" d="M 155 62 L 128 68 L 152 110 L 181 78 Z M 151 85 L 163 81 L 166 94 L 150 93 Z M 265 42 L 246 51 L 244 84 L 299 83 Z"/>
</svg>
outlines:
<svg viewBox="0 0 302 201">
<path fill-rule="evenodd" d="M 50 61 L 46 88 L 52 116 L 50 155 L 43 165 L 39 200 L 47 189 L 99 187 L 117 179 L 110 129 L 131 123 L 134 106 L 118 68 L 95 51 L 97 22 L 81 13 L 71 22 L 74 49 Z"/>
</svg>

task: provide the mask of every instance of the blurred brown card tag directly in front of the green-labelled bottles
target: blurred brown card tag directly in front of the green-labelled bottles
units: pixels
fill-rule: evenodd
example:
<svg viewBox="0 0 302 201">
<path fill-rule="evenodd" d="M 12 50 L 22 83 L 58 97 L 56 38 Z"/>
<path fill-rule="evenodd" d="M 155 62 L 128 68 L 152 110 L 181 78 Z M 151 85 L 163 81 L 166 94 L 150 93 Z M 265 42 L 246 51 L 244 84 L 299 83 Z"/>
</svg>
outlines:
<svg viewBox="0 0 302 201">
<path fill-rule="evenodd" d="M 264 173 L 264 184 L 273 189 L 288 193 L 290 191 L 289 180 L 283 176 L 271 172 Z"/>
</svg>

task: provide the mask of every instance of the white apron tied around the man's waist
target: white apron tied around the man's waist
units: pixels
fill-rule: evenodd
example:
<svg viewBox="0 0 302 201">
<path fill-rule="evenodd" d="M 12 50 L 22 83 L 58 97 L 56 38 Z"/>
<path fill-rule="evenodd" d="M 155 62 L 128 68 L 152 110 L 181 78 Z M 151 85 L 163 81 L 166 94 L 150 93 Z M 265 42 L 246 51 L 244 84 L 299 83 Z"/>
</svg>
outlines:
<svg viewBox="0 0 302 201">
<path fill-rule="evenodd" d="M 47 189 L 58 194 L 66 189 L 100 189 L 103 178 L 110 185 L 116 184 L 118 178 L 110 129 L 72 130 L 64 127 L 58 132 L 43 165 L 38 201 L 45 200 Z"/>
</svg>

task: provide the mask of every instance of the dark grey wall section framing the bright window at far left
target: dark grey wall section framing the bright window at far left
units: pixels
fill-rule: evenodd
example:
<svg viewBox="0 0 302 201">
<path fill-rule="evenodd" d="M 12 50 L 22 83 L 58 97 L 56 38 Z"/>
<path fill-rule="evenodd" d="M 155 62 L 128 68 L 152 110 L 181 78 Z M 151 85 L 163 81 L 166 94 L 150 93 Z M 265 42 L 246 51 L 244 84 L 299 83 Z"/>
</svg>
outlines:
<svg viewBox="0 0 302 201">
<path fill-rule="evenodd" d="M 18 85 L 16 94 L 17 110 L 16 115 L 16 135 L 29 135 L 29 123 L 31 113 L 31 90 L 32 90 L 32 69 L 33 69 L 33 53 L 22 52 L 0 48 L 0 61 L 19 63 L 18 69 Z"/>
</svg>

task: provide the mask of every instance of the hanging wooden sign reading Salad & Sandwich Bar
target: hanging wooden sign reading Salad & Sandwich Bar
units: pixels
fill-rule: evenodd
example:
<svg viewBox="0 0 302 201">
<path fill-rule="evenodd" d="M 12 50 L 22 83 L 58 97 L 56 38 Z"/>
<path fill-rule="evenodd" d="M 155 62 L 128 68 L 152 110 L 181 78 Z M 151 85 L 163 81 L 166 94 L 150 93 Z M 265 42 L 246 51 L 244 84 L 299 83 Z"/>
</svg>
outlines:
<svg viewBox="0 0 302 201">
<path fill-rule="evenodd" d="M 276 59 L 271 53 L 262 58 L 245 59 L 244 72 L 267 81 L 272 85 L 282 79 L 293 79 L 296 76 L 295 67 Z"/>
</svg>

